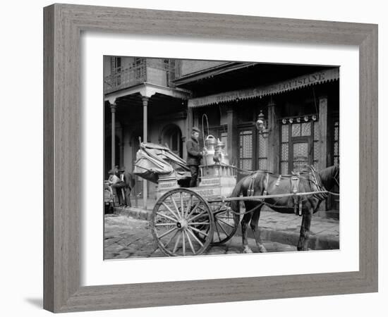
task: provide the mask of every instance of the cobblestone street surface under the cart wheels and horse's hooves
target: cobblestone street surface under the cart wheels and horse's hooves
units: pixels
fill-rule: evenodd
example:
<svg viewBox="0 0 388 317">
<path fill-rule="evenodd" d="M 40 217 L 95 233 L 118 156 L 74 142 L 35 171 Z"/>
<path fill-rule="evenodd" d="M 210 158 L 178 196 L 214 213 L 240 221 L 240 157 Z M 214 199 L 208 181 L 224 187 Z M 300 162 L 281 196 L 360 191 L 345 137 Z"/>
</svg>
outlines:
<svg viewBox="0 0 388 317">
<path fill-rule="evenodd" d="M 255 240 L 248 239 L 253 252 L 258 252 Z M 296 247 L 278 242 L 264 241 L 269 252 L 296 251 Z M 205 254 L 239 254 L 242 251 L 241 237 L 235 235 L 222 246 L 210 247 Z M 147 220 L 128 216 L 105 215 L 104 259 L 133 259 L 165 256 L 152 237 Z"/>
</svg>

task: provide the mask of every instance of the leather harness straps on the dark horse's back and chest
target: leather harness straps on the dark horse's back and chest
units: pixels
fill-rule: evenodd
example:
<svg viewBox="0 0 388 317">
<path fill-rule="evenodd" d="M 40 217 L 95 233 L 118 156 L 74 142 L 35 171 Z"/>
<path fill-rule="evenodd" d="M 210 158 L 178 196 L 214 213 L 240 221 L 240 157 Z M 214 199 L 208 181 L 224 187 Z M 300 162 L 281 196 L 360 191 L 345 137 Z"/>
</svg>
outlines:
<svg viewBox="0 0 388 317">
<path fill-rule="evenodd" d="M 260 173 L 262 173 L 262 172 L 260 172 Z M 264 183 L 264 190 L 262 192 L 262 196 L 266 196 L 268 193 L 267 188 L 268 188 L 268 182 L 269 182 L 269 174 L 270 174 L 269 172 L 265 172 L 265 183 Z M 248 190 L 247 190 L 247 196 L 254 195 L 254 192 L 255 192 L 254 184 L 255 184 L 255 179 L 257 178 L 257 175 L 259 175 L 259 173 L 254 173 L 253 175 L 250 176 L 250 183 L 249 183 Z M 284 175 L 279 175 L 279 177 L 277 178 L 277 181 L 275 182 L 275 186 L 280 185 L 281 178 L 284 178 Z M 300 173 L 292 173 L 291 178 L 290 178 L 290 189 L 291 189 L 291 193 L 293 194 L 293 196 L 292 196 L 292 198 L 293 198 L 293 212 L 299 216 L 302 216 L 302 204 L 303 204 L 303 198 L 301 196 L 297 195 L 297 193 L 300 192 L 299 182 L 300 182 L 301 178 L 308 180 L 308 182 L 310 182 L 310 187 L 313 189 L 313 192 L 320 192 L 317 194 L 313 194 L 312 195 L 313 197 L 315 197 L 318 200 L 324 200 L 328 196 L 326 189 L 322 185 L 322 181 L 321 181 L 319 175 L 317 174 L 317 170 L 315 170 L 314 166 L 310 166 L 310 171 L 308 172 L 308 178 L 305 178 Z M 269 207 L 284 208 L 284 209 L 289 208 L 288 205 L 281 206 L 281 205 L 277 205 L 276 203 L 269 204 L 268 202 L 265 201 L 264 198 L 259 199 L 259 201 L 262 204 L 265 204 Z"/>
</svg>

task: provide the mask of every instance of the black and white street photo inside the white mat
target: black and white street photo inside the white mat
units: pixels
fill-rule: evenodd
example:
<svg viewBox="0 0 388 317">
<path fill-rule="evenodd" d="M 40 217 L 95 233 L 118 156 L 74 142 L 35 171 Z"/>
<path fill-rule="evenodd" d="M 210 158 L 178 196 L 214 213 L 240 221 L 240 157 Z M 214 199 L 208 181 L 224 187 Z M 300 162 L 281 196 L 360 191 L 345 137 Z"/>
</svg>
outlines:
<svg viewBox="0 0 388 317">
<path fill-rule="evenodd" d="M 339 80 L 104 56 L 104 259 L 339 249 Z"/>
</svg>

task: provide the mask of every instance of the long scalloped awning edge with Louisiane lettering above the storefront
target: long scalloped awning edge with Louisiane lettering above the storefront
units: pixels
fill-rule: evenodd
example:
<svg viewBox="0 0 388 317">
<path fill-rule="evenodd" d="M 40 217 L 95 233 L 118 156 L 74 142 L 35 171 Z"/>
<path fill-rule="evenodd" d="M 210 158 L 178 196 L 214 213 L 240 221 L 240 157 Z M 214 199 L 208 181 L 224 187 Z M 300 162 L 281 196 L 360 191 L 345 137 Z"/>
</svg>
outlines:
<svg viewBox="0 0 388 317">
<path fill-rule="evenodd" d="M 234 90 L 231 92 L 222 92 L 220 94 L 212 94 L 210 96 L 188 99 L 188 107 L 195 108 L 210 104 L 219 104 L 221 102 L 234 101 L 236 99 L 243 100 L 263 97 L 338 79 L 339 68 L 330 68 L 328 70 L 320 70 L 316 73 L 298 76 L 290 80 L 284 80 L 283 82 L 277 82 L 272 85 Z"/>
</svg>

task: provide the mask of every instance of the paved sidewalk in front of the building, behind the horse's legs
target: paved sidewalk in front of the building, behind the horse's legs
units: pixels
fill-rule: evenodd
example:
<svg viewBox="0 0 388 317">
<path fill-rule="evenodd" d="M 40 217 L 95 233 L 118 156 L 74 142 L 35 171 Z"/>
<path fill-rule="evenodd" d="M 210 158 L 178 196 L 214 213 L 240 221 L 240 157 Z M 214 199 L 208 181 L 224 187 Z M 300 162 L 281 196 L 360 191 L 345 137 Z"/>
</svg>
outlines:
<svg viewBox="0 0 388 317">
<path fill-rule="evenodd" d="M 114 213 L 150 220 L 152 209 L 115 207 Z M 301 230 L 301 222 L 302 217 L 294 214 L 262 210 L 259 220 L 260 237 L 262 240 L 296 246 L 298 244 L 299 231 Z M 247 232 L 248 237 L 253 237 L 250 227 L 248 227 Z M 236 235 L 241 235 L 240 226 Z M 308 247 L 313 250 L 339 249 L 339 220 L 314 215 L 313 220 L 311 220 Z"/>
</svg>

